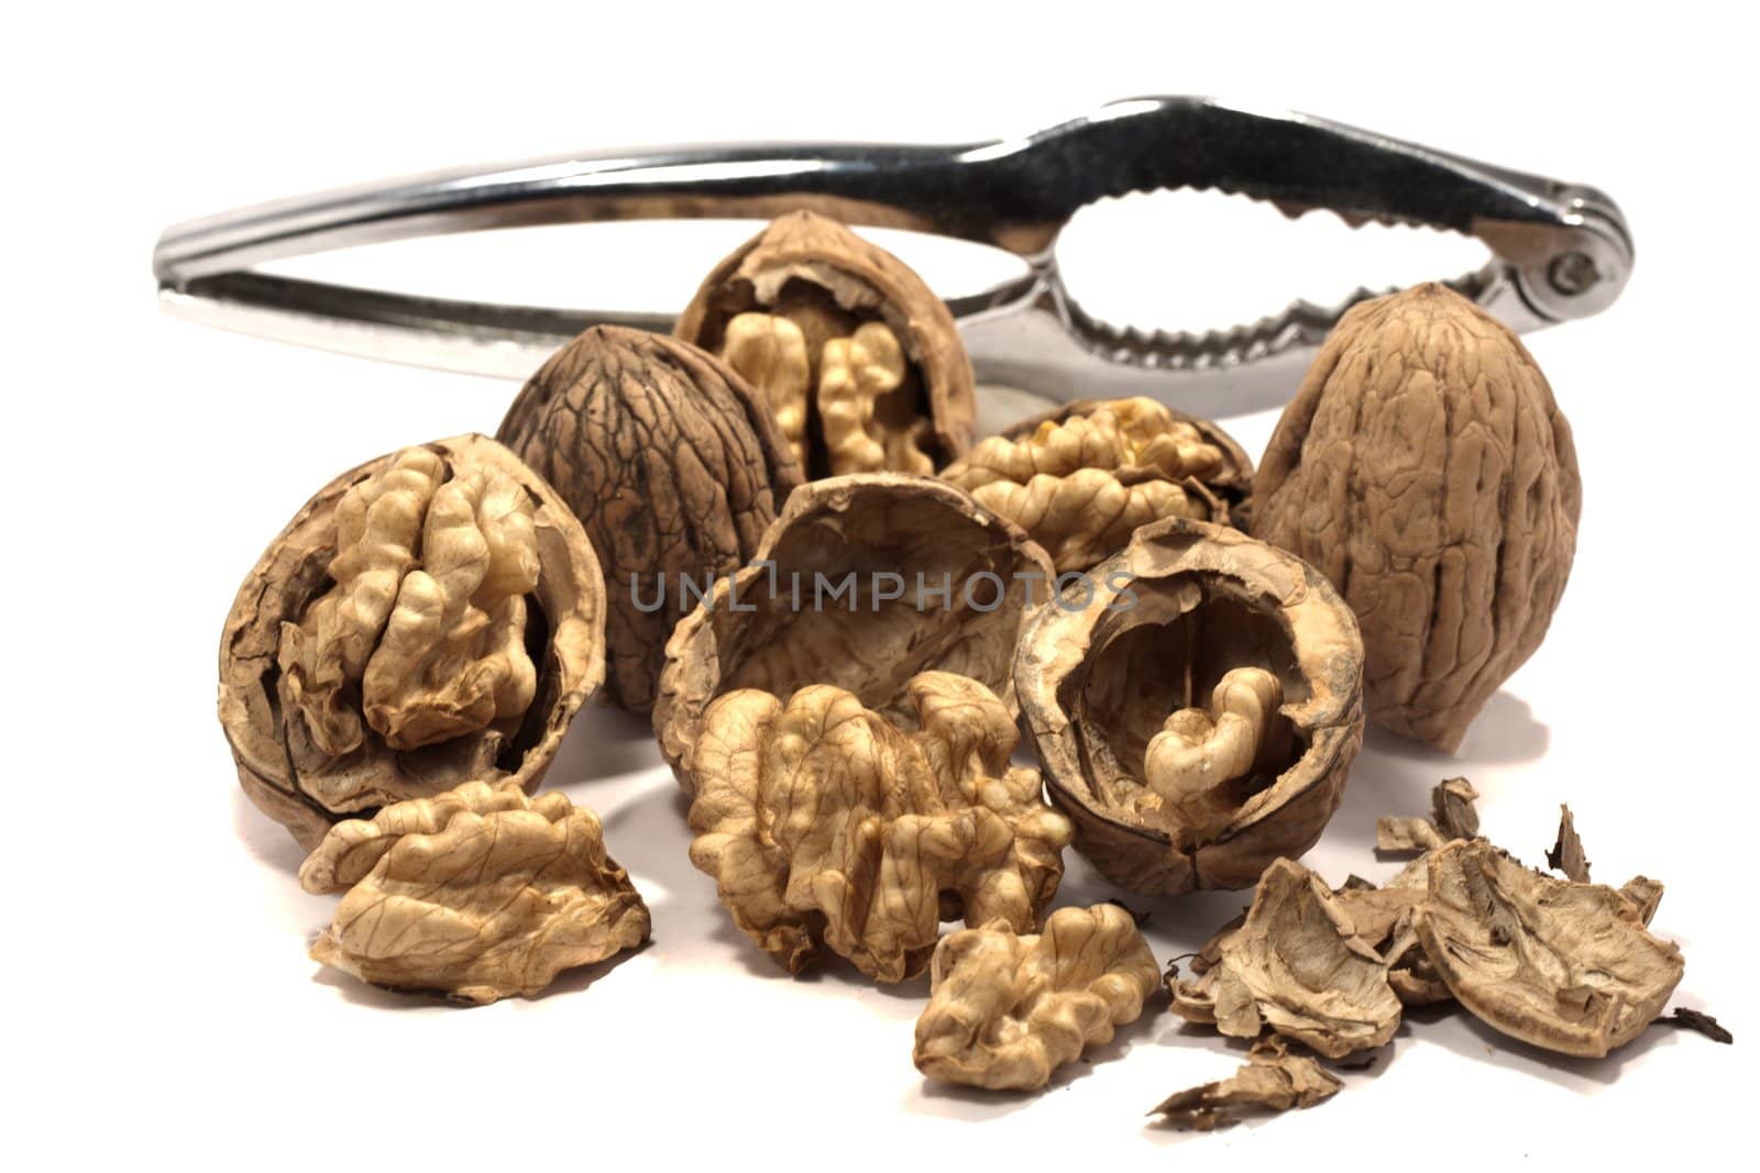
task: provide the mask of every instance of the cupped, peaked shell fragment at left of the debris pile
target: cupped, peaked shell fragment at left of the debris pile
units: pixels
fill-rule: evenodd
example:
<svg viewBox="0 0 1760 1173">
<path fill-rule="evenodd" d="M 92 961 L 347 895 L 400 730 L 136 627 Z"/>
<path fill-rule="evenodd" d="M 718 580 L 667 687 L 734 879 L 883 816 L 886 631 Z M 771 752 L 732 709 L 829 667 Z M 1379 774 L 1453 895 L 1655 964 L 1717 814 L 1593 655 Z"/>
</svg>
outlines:
<svg viewBox="0 0 1760 1173">
<path fill-rule="evenodd" d="M 1387 960 L 1299 863 L 1265 869 L 1246 920 L 1216 953 L 1197 980 L 1174 987 L 1174 1013 L 1190 1022 L 1246 1039 L 1271 1031 L 1331 1059 L 1382 1046 L 1399 1027 Z"/>
</svg>

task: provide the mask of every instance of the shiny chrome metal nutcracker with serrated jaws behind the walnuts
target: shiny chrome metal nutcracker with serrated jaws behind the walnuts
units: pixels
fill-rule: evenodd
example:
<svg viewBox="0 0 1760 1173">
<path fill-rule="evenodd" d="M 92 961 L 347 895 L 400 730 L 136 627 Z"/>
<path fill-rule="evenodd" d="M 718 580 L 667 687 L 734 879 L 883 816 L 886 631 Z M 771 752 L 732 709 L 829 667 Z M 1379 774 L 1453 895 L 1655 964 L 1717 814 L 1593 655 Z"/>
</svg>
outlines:
<svg viewBox="0 0 1760 1173">
<path fill-rule="evenodd" d="M 949 302 L 980 383 L 1051 399 L 1153 394 L 1202 415 L 1288 396 L 1338 317 L 1295 302 L 1200 334 L 1091 318 L 1058 273 L 1060 229 L 1107 195 L 1207 188 L 1287 215 L 1412 223 L 1478 237 L 1492 260 L 1448 278 L 1519 331 L 1605 310 L 1632 236 L 1603 193 L 1292 113 L 1133 98 L 1017 141 L 961 146 L 760 144 L 567 155 L 310 195 L 167 229 L 153 274 L 180 317 L 283 341 L 524 378 L 595 322 L 664 315 L 410 297 L 252 271 L 345 244 L 445 232 L 653 218 L 767 218 L 808 208 L 868 227 L 1008 250 L 1028 274 Z M 1447 274 L 1440 274 L 1447 276 Z"/>
</svg>

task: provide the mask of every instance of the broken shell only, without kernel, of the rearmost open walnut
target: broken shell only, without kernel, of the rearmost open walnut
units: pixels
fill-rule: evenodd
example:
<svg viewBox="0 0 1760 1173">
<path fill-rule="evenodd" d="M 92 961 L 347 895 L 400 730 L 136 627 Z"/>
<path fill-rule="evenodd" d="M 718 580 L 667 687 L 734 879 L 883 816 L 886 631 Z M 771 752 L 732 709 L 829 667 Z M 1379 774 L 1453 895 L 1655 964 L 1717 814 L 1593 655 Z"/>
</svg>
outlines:
<svg viewBox="0 0 1760 1173">
<path fill-rule="evenodd" d="M 727 353 L 729 324 L 739 315 L 774 315 L 799 329 L 806 389 L 822 390 L 827 341 L 847 339 L 862 324 L 884 325 L 903 350 L 905 382 L 896 404 L 871 406 L 868 431 L 887 448 L 884 464 L 836 466 L 841 443 L 827 438 L 811 392 L 801 436 L 808 478 L 855 471 L 933 471 L 972 445 L 977 399 L 972 362 L 954 317 L 903 260 L 843 223 L 810 211 L 778 216 L 725 257 L 679 315 L 674 334 L 718 355 Z M 753 378 L 753 382 L 764 382 Z M 892 448 L 928 457 L 926 468 L 901 463 Z"/>
</svg>

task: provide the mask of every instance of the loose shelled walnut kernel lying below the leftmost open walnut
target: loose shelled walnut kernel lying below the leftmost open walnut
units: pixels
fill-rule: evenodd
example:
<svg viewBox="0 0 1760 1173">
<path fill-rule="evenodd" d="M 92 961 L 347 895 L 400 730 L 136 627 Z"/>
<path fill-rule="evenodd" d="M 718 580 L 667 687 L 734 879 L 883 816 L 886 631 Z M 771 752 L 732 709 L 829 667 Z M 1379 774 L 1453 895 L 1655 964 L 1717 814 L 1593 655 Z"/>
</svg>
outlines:
<svg viewBox="0 0 1760 1173">
<path fill-rule="evenodd" d="M 558 793 L 526 800 L 517 786 L 472 784 L 338 823 L 299 881 L 315 892 L 352 883 L 313 960 L 468 1002 L 532 997 L 649 930 L 598 816 Z"/>
</svg>

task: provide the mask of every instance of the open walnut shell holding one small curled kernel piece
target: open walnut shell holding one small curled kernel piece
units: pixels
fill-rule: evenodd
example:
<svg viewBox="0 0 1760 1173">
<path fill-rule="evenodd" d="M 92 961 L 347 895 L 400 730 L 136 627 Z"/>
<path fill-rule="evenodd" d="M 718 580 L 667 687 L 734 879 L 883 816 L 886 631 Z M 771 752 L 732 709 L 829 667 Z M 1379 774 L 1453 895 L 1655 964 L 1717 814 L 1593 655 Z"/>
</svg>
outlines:
<svg viewBox="0 0 1760 1173">
<path fill-rule="evenodd" d="M 1338 807 L 1362 742 L 1360 656 L 1313 568 L 1170 517 L 1028 624 L 1016 688 L 1051 797 L 1107 879 L 1244 888 Z"/>
</svg>

